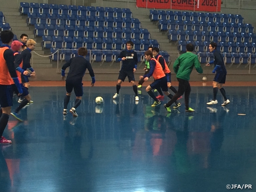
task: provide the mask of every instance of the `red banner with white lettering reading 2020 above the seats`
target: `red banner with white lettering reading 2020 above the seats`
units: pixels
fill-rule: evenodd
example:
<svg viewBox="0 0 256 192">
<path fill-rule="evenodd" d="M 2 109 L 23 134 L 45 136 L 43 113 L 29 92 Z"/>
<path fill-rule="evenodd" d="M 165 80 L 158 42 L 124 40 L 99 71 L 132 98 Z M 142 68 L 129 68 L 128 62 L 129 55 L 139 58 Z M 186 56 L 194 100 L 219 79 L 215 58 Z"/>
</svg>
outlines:
<svg viewBox="0 0 256 192">
<path fill-rule="evenodd" d="M 221 0 L 137 0 L 138 7 L 219 12 Z"/>
</svg>

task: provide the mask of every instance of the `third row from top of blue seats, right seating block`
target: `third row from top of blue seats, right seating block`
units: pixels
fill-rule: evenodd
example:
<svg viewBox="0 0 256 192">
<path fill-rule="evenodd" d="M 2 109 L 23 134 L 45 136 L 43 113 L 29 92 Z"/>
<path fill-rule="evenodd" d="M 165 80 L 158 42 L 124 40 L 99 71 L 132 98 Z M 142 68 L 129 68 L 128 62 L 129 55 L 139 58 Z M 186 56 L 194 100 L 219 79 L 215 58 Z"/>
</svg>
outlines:
<svg viewBox="0 0 256 192">
<path fill-rule="evenodd" d="M 170 41 L 213 41 L 213 42 L 256 42 L 254 33 L 238 33 L 238 32 L 205 32 L 205 31 L 183 31 L 169 30 L 168 39 Z"/>
</svg>

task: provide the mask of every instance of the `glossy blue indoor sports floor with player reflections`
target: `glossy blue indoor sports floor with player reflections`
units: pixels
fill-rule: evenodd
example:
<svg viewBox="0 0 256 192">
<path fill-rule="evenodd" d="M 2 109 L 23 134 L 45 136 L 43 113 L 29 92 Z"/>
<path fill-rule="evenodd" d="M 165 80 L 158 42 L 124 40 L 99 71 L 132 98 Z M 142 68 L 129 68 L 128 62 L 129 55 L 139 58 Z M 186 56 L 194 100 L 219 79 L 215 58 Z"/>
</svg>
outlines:
<svg viewBox="0 0 256 192">
<path fill-rule="evenodd" d="M 152 108 L 145 87 L 138 105 L 132 87 L 121 88 L 116 104 L 115 87 L 84 87 L 78 118 L 64 120 L 65 88 L 31 87 L 34 104 L 20 112 L 26 121 L 10 117 L 4 132 L 13 143 L 0 146 L 0 191 L 225 192 L 250 184 L 243 191 L 255 192 L 256 89 L 225 89 L 226 109 L 220 92 L 210 110 L 212 88 L 192 87 L 196 112 L 185 114 L 181 99 L 168 114 L 169 99 Z"/>
</svg>

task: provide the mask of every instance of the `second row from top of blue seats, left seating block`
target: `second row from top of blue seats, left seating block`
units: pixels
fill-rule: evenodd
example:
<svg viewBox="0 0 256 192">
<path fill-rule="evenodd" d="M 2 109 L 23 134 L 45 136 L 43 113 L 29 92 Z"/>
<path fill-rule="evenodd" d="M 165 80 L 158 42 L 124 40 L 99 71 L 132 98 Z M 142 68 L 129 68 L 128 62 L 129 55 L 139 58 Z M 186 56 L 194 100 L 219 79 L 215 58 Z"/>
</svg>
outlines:
<svg viewBox="0 0 256 192">
<path fill-rule="evenodd" d="M 68 16 L 29 14 L 28 25 L 68 25 L 68 26 L 96 26 L 96 27 L 119 27 L 119 28 L 140 28 L 140 21 L 137 18 L 112 18 L 92 16 Z"/>
</svg>

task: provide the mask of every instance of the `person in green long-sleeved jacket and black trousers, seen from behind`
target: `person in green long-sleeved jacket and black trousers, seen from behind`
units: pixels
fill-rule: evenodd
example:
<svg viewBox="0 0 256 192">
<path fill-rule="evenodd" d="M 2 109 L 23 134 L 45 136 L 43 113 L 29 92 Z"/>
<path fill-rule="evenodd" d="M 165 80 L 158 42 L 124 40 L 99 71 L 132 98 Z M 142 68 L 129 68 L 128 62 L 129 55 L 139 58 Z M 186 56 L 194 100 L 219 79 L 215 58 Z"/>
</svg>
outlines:
<svg viewBox="0 0 256 192">
<path fill-rule="evenodd" d="M 173 98 L 166 104 L 164 104 L 164 107 L 168 112 L 171 112 L 170 106 L 185 93 L 185 111 L 186 112 L 194 112 L 195 110 L 190 108 L 188 106 L 189 102 L 189 95 L 190 95 L 190 74 L 193 70 L 193 68 L 196 68 L 196 71 L 198 73 L 203 73 L 203 69 L 200 65 L 200 62 L 198 60 L 198 57 L 193 54 L 194 45 L 189 43 L 186 45 L 186 53 L 180 55 L 178 59 L 174 62 L 173 69 L 176 73 L 176 77 L 179 82 L 178 86 L 178 92 L 173 96 Z"/>
</svg>

